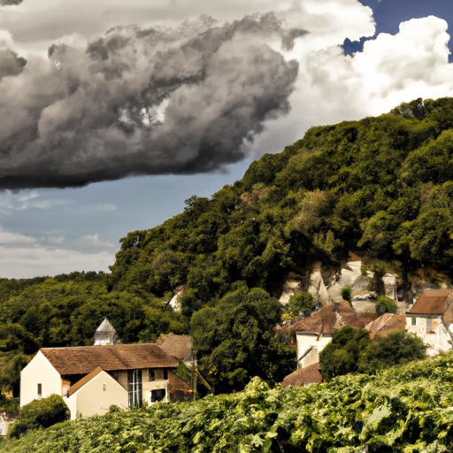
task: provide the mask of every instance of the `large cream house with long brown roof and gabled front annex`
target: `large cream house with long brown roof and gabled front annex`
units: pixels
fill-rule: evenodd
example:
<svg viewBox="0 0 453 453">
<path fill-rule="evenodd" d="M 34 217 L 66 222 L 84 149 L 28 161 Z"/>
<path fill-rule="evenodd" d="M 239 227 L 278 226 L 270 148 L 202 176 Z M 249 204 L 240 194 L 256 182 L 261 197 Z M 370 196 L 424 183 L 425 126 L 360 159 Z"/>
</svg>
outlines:
<svg viewBox="0 0 453 453">
<path fill-rule="evenodd" d="M 192 390 L 174 374 L 178 365 L 156 344 L 42 348 L 20 374 L 20 406 L 62 395 L 74 419 L 102 415 L 112 404 L 180 401 Z"/>
</svg>

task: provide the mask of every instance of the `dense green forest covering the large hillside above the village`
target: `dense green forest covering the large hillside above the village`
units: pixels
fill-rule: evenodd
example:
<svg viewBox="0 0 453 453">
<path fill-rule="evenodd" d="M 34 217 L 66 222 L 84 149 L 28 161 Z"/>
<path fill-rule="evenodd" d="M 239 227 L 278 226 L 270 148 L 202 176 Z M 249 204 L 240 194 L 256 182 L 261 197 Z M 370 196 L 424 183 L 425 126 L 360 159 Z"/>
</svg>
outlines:
<svg viewBox="0 0 453 453">
<path fill-rule="evenodd" d="M 110 285 L 164 296 L 185 285 L 189 318 L 243 280 L 279 296 L 290 275 L 356 251 L 396 268 L 453 276 L 453 99 L 313 127 L 250 165 L 211 199 L 121 240 Z M 403 288 L 405 288 L 403 284 Z"/>
</svg>

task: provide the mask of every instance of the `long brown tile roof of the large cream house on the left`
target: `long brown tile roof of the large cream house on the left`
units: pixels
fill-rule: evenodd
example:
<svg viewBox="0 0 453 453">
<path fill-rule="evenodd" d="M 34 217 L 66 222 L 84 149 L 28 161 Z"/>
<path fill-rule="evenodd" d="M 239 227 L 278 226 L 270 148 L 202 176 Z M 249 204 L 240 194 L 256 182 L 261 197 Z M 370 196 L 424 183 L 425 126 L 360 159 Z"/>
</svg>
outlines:
<svg viewBox="0 0 453 453">
<path fill-rule="evenodd" d="M 42 348 L 41 352 L 62 376 L 88 374 L 98 366 L 106 372 L 178 366 L 178 360 L 149 343 Z"/>
</svg>

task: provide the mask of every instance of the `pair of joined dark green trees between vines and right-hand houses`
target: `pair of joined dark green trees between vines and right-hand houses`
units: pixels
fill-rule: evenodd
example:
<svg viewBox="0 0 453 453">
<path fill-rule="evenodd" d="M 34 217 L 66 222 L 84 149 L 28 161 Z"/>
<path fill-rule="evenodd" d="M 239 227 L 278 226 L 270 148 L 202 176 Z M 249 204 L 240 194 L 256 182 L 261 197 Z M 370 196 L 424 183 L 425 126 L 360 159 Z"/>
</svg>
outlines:
<svg viewBox="0 0 453 453">
<path fill-rule="evenodd" d="M 346 326 L 319 353 L 319 368 L 324 379 L 330 380 L 349 372 L 374 373 L 425 357 L 426 344 L 405 330 L 372 342 L 367 330 Z"/>
</svg>

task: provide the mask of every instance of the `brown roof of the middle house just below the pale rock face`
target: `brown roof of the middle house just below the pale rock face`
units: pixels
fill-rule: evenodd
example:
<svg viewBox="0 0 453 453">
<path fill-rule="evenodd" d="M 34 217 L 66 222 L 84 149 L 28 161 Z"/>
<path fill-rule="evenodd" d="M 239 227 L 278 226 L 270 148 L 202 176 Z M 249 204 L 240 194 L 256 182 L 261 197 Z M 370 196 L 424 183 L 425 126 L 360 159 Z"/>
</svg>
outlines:
<svg viewBox="0 0 453 453">
<path fill-rule="evenodd" d="M 357 313 L 349 303 L 330 303 L 305 319 L 299 319 L 290 326 L 281 326 L 280 330 L 307 334 L 333 335 L 344 326 L 354 329 L 365 327 L 377 315 L 374 313 Z"/>
</svg>

